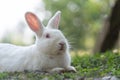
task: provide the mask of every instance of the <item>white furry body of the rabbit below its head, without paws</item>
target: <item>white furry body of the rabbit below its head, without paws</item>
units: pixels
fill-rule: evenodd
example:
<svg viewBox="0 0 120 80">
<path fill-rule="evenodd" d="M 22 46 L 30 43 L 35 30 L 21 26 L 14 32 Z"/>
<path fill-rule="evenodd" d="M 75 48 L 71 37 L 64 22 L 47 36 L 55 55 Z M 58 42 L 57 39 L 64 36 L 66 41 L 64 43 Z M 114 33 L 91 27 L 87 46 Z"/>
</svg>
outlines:
<svg viewBox="0 0 120 80">
<path fill-rule="evenodd" d="M 55 67 L 65 68 L 67 65 L 70 65 L 69 57 L 66 53 L 62 55 L 42 54 L 42 52 L 37 51 L 35 45 L 18 47 L 10 44 L 0 44 L 0 46 L 3 46 L 0 49 L 5 51 L 2 54 L 0 52 L 0 72 L 48 71 Z"/>
</svg>

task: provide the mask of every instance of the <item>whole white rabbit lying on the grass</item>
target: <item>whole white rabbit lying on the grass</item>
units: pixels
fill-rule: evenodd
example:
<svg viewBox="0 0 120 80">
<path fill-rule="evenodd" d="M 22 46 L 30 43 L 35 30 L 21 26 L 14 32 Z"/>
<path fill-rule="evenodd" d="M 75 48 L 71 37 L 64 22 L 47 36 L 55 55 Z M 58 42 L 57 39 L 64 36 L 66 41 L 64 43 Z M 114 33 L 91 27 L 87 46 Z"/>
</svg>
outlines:
<svg viewBox="0 0 120 80">
<path fill-rule="evenodd" d="M 31 46 L 0 44 L 0 72 L 28 71 L 76 71 L 71 66 L 69 44 L 58 30 L 61 12 L 49 20 L 46 27 L 38 17 L 27 12 L 25 19 L 36 34 L 36 42 Z"/>
</svg>

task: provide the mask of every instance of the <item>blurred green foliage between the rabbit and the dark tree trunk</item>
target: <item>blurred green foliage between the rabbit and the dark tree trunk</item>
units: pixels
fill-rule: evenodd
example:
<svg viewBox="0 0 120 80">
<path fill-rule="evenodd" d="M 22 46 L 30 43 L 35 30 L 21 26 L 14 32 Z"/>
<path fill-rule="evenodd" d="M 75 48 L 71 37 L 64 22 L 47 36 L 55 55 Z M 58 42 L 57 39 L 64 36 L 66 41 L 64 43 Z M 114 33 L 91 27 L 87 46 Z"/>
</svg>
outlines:
<svg viewBox="0 0 120 80">
<path fill-rule="evenodd" d="M 89 49 L 109 14 L 111 0 L 44 0 L 46 9 L 62 11 L 60 27 L 75 49 Z"/>
</svg>

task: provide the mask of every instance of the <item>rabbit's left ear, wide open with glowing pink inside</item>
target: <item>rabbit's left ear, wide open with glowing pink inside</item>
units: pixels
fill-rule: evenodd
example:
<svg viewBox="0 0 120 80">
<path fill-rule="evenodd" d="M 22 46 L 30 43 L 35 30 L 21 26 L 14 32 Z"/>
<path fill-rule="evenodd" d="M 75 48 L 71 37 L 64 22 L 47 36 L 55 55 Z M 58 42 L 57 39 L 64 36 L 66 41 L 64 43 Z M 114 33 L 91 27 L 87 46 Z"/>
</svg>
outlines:
<svg viewBox="0 0 120 80">
<path fill-rule="evenodd" d="M 25 14 L 25 18 L 26 21 L 29 25 L 29 27 L 38 35 L 40 35 L 43 31 L 43 25 L 41 23 L 41 21 L 38 19 L 38 17 L 31 13 L 31 12 L 27 12 Z"/>
</svg>

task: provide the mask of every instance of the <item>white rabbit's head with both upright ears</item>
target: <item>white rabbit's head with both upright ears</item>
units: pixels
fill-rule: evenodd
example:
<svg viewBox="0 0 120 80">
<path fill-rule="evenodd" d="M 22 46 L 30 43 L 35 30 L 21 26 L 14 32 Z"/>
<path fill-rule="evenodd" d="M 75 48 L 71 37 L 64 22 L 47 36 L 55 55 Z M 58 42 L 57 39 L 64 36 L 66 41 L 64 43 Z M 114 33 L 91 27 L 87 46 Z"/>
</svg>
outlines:
<svg viewBox="0 0 120 80">
<path fill-rule="evenodd" d="M 31 12 L 27 12 L 25 14 L 25 18 L 29 27 L 36 34 L 35 45 L 41 52 L 45 54 L 62 54 L 69 49 L 66 38 L 58 29 L 60 15 L 61 12 L 57 11 L 55 15 L 49 20 L 47 26 L 44 27 L 35 14 Z"/>
</svg>

